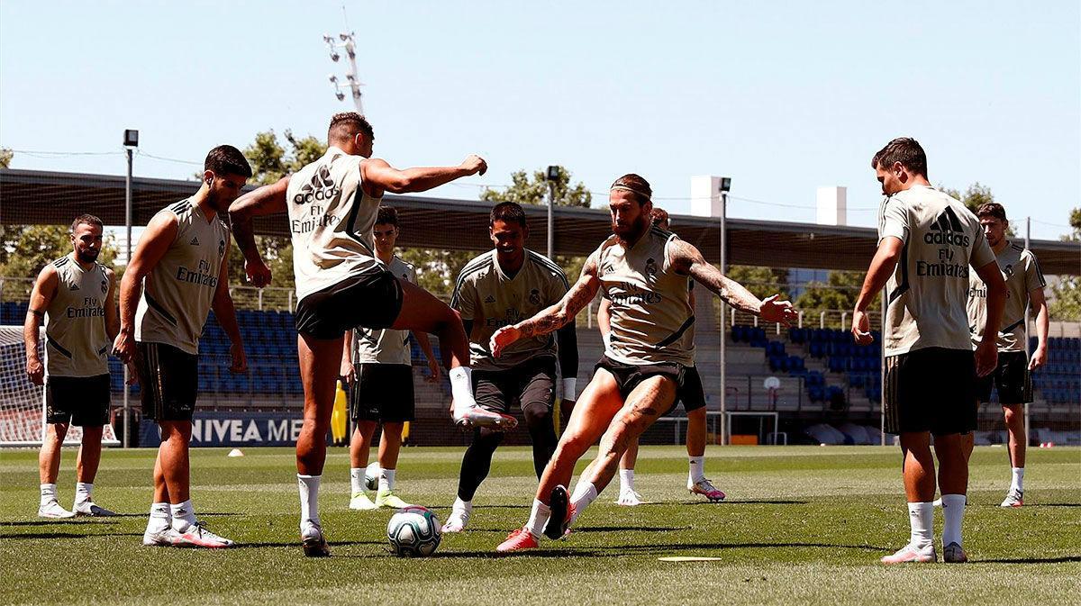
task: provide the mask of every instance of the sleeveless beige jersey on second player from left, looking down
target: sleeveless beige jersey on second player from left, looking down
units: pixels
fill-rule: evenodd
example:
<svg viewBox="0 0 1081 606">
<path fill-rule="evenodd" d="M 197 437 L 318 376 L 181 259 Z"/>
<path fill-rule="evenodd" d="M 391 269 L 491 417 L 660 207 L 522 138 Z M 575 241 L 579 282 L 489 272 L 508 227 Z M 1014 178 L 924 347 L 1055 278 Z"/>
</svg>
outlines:
<svg viewBox="0 0 1081 606">
<path fill-rule="evenodd" d="M 143 282 L 135 310 L 135 340 L 199 353 L 199 337 L 214 302 L 229 228 L 208 218 L 191 200 L 158 212 L 176 216 L 176 238 Z"/>
</svg>

